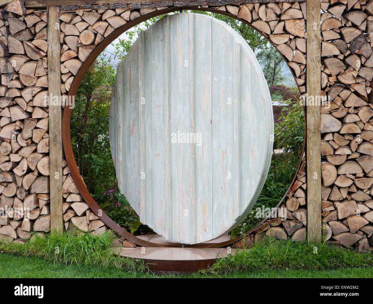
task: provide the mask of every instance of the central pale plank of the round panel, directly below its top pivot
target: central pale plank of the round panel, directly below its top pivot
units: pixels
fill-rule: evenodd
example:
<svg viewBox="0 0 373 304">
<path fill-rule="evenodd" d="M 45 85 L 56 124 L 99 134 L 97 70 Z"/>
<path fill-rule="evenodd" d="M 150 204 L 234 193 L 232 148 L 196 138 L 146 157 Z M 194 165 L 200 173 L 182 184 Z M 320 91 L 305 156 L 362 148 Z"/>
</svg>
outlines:
<svg viewBox="0 0 373 304">
<path fill-rule="evenodd" d="M 189 27 L 189 15 L 182 15 L 174 26 L 170 27 L 171 40 L 175 47 L 172 48 L 170 56 L 171 70 L 175 71 L 175 79 L 171 82 L 169 98 L 170 105 L 170 132 L 174 134 L 188 134 L 193 132 L 194 125 L 194 100 L 191 90 L 190 75 L 192 72 L 193 60 L 191 52 L 191 28 Z M 182 37 L 184 39 L 178 39 Z M 170 45 L 169 45 L 170 47 Z M 175 100 L 186 102 L 175 103 Z M 195 221 L 195 188 L 194 188 L 194 144 L 187 142 L 171 144 L 171 167 L 172 167 L 172 200 L 178 201 L 175 208 L 172 206 L 172 218 L 177 224 L 173 226 L 172 234 L 185 236 L 184 243 L 189 244 L 194 239 Z M 175 189 L 175 190 L 174 190 Z"/>
</svg>

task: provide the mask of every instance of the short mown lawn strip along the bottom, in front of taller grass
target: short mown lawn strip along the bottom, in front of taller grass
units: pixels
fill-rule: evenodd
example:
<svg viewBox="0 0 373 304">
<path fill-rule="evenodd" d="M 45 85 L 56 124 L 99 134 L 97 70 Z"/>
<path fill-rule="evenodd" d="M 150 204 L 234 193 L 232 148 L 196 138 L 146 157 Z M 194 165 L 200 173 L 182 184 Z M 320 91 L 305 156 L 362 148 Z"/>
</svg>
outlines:
<svg viewBox="0 0 373 304">
<path fill-rule="evenodd" d="M 114 267 L 78 266 L 54 263 L 40 257 L 0 254 L 1 278 L 373 278 L 373 267 L 341 267 L 333 270 L 263 270 L 232 271 L 226 275 L 154 275 L 150 272 L 126 271 Z"/>
</svg>

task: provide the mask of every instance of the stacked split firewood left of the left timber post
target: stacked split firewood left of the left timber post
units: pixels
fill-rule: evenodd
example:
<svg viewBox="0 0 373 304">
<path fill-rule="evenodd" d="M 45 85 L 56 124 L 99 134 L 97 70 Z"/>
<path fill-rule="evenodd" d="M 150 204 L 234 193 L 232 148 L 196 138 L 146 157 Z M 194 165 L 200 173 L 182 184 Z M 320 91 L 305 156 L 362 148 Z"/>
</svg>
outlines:
<svg viewBox="0 0 373 304">
<path fill-rule="evenodd" d="M 0 12 L 0 238 L 22 243 L 50 229 L 47 15 Z"/>
</svg>

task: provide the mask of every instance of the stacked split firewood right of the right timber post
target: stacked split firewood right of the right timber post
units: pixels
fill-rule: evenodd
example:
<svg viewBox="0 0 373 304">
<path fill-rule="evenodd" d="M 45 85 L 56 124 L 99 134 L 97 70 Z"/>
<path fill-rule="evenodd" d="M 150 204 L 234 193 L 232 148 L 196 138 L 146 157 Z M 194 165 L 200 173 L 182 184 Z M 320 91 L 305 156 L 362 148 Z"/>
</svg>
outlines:
<svg viewBox="0 0 373 304">
<path fill-rule="evenodd" d="M 322 2 L 322 221 L 326 239 L 373 247 L 373 1 Z"/>
</svg>

